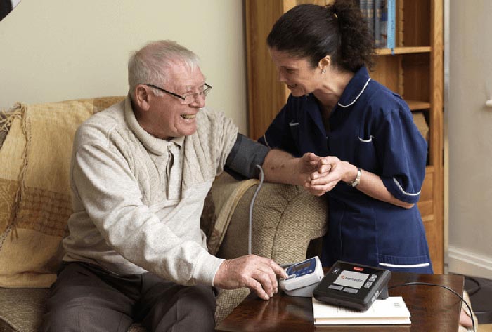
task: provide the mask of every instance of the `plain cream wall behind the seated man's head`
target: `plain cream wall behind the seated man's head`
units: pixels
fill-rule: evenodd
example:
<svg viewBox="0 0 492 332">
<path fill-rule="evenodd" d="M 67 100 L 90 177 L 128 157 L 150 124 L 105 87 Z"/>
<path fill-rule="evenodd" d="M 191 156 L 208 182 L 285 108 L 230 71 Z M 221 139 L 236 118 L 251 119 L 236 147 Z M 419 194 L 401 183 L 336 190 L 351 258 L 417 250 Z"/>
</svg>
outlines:
<svg viewBox="0 0 492 332">
<path fill-rule="evenodd" d="M 0 22 L 0 109 L 126 95 L 129 53 L 172 39 L 200 56 L 207 106 L 247 133 L 241 0 L 23 0 Z"/>
</svg>

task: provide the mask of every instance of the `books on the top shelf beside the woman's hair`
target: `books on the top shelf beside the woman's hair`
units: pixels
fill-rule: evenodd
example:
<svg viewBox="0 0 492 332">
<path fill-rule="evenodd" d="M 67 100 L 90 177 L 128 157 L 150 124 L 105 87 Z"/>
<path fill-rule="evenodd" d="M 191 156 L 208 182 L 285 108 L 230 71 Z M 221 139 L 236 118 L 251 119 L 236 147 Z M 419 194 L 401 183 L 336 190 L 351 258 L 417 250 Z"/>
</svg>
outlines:
<svg viewBox="0 0 492 332">
<path fill-rule="evenodd" d="M 396 0 L 359 0 L 359 7 L 378 48 L 395 47 Z"/>
</svg>

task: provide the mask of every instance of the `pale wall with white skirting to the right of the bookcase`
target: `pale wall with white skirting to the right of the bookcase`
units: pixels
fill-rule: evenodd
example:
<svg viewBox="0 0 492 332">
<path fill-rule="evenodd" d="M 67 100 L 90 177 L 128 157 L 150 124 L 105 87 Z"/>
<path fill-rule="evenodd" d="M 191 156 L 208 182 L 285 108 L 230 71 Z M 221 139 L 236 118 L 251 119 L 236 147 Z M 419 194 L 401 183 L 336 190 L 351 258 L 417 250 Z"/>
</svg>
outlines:
<svg viewBox="0 0 492 332">
<path fill-rule="evenodd" d="M 448 267 L 492 279 L 492 1 L 446 2 Z"/>
</svg>

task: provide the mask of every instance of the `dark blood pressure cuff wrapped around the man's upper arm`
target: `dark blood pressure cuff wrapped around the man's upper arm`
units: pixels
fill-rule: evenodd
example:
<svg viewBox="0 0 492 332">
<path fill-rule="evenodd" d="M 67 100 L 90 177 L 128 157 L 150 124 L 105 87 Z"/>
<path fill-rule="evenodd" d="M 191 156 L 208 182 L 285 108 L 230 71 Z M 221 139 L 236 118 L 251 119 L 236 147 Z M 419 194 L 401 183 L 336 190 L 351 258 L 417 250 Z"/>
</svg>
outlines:
<svg viewBox="0 0 492 332">
<path fill-rule="evenodd" d="M 238 133 L 238 138 L 227 157 L 226 166 L 246 178 L 258 178 L 257 165 L 263 165 L 268 151 L 270 150 L 265 145 Z"/>
</svg>

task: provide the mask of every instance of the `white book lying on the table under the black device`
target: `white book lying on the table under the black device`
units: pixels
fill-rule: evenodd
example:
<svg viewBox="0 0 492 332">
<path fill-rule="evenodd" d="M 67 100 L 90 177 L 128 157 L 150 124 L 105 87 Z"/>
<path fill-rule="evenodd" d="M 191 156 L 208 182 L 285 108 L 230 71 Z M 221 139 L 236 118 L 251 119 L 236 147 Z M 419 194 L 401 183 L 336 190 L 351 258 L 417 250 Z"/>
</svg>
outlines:
<svg viewBox="0 0 492 332">
<path fill-rule="evenodd" d="M 410 312 L 401 296 L 375 300 L 365 312 L 329 305 L 313 298 L 315 325 L 410 324 Z"/>
</svg>

